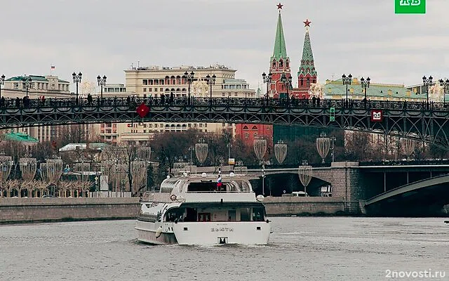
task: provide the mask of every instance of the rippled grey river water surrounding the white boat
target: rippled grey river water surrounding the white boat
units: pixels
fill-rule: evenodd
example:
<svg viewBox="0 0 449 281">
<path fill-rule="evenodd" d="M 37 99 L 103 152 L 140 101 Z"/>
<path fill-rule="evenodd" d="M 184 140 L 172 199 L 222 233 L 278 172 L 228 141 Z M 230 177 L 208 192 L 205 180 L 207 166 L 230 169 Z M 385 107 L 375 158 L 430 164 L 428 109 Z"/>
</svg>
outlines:
<svg viewBox="0 0 449 281">
<path fill-rule="evenodd" d="M 449 280 L 443 221 L 272 218 L 269 244 L 255 247 L 149 246 L 135 242 L 134 221 L 6 225 L 0 280 L 391 280 L 424 270 Z"/>
</svg>

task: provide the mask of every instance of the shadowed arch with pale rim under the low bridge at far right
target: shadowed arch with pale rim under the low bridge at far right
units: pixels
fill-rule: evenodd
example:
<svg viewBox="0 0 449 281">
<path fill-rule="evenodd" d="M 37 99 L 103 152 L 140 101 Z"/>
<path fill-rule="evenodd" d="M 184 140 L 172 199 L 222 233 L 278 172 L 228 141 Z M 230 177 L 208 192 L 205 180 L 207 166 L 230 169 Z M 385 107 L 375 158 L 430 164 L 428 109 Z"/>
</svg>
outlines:
<svg viewBox="0 0 449 281">
<path fill-rule="evenodd" d="M 427 178 L 389 190 L 366 200 L 368 214 L 420 215 L 438 214 L 449 204 L 449 174 Z"/>
</svg>

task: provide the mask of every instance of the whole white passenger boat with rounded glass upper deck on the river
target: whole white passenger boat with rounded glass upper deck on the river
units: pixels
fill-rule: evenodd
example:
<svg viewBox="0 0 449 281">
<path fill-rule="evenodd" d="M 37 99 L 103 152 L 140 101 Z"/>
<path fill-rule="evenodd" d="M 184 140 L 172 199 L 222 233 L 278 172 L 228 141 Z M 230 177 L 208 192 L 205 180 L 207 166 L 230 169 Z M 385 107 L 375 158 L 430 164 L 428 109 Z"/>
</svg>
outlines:
<svg viewBox="0 0 449 281">
<path fill-rule="evenodd" d="M 263 196 L 243 176 L 166 178 L 142 202 L 138 241 L 150 244 L 267 244 Z"/>
</svg>

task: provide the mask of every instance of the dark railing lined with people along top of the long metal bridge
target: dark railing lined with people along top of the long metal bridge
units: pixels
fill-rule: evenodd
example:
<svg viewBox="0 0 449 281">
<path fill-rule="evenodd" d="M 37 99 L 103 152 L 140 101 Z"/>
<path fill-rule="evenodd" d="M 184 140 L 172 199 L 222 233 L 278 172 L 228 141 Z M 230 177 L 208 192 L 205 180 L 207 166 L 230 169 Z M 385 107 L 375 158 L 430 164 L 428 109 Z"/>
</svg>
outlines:
<svg viewBox="0 0 449 281">
<path fill-rule="evenodd" d="M 446 103 L 389 100 L 330 100 L 297 98 L 187 98 L 187 97 L 135 97 L 128 98 L 1 98 L 0 109 L 26 107 L 101 107 L 127 106 L 210 106 L 210 107 L 278 107 L 278 108 L 330 108 L 381 110 L 438 110 L 449 111 Z"/>
</svg>

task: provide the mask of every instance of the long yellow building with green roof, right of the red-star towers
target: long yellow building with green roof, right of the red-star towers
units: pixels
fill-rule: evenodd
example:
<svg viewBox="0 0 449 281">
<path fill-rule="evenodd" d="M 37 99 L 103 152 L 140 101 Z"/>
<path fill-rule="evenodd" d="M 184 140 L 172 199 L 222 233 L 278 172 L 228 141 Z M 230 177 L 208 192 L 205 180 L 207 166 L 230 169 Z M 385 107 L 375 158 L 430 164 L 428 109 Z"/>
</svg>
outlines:
<svg viewBox="0 0 449 281">
<path fill-rule="evenodd" d="M 343 84 L 342 79 L 335 81 L 326 81 L 324 85 L 324 94 L 326 96 L 346 96 L 346 85 Z M 366 95 L 372 98 L 408 98 L 425 100 L 426 94 L 413 93 L 407 89 L 403 84 L 377 84 L 371 83 L 366 91 Z M 363 98 L 365 93 L 361 87 L 358 79 L 353 79 L 351 85 L 348 85 L 348 96 L 358 96 Z"/>
</svg>

